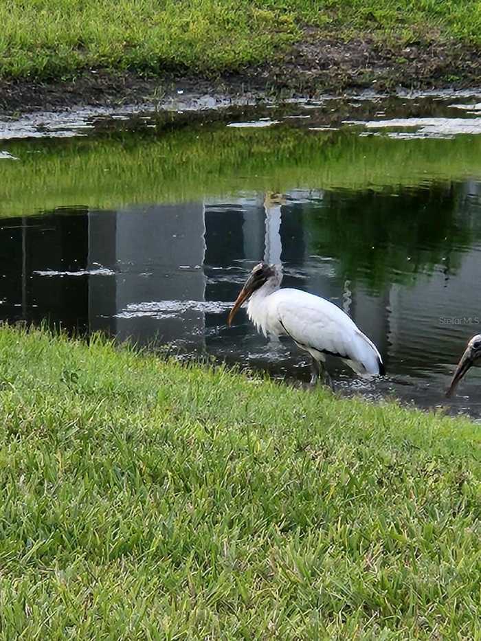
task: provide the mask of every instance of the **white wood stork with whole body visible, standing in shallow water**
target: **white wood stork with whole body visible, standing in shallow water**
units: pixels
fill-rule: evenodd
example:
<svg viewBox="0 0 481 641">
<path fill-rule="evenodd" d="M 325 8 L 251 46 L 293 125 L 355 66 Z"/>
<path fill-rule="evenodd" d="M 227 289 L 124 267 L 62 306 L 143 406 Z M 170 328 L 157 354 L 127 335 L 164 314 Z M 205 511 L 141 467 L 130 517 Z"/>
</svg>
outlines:
<svg viewBox="0 0 481 641">
<path fill-rule="evenodd" d="M 384 373 L 376 346 L 341 308 L 320 296 L 300 289 L 280 289 L 282 269 L 260 262 L 230 311 L 232 323 L 238 308 L 247 300 L 247 315 L 256 329 L 268 334 L 289 336 L 312 357 L 311 384 L 324 372 L 326 355 L 337 356 L 361 376 Z M 326 379 L 329 381 L 328 376 Z"/>
</svg>

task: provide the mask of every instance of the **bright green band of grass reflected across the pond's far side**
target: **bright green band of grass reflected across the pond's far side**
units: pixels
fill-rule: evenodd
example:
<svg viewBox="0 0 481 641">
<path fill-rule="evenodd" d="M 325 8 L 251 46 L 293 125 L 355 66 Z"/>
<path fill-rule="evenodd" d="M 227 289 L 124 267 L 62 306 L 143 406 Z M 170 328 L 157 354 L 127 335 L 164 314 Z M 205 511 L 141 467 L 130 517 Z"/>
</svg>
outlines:
<svg viewBox="0 0 481 641">
<path fill-rule="evenodd" d="M 72 204 L 202 200 L 246 189 L 396 190 L 481 175 L 481 142 L 468 135 L 399 140 L 225 122 L 169 131 L 160 121 L 148 133 L 12 141 L 2 149 L 19 161 L 2 161 L 0 216 Z"/>
</svg>

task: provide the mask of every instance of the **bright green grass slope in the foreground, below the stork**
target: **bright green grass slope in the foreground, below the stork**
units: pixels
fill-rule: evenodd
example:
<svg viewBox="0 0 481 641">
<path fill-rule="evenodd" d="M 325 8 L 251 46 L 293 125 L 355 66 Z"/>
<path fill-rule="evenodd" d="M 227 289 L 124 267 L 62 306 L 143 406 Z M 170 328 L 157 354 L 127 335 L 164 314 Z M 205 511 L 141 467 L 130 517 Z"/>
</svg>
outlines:
<svg viewBox="0 0 481 641">
<path fill-rule="evenodd" d="M 481 638 L 479 426 L 38 330 L 0 376 L 0 638 Z"/>
</svg>

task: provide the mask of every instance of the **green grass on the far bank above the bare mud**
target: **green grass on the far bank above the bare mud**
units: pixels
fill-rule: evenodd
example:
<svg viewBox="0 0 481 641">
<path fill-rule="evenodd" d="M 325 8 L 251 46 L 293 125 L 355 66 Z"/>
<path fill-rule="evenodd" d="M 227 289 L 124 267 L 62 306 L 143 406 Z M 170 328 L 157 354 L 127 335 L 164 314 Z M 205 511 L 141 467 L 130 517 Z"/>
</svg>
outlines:
<svg viewBox="0 0 481 641">
<path fill-rule="evenodd" d="M 3 0 L 0 75 L 90 67 L 233 71 L 271 60 L 305 25 L 337 38 L 481 43 L 478 0 Z"/>
</svg>

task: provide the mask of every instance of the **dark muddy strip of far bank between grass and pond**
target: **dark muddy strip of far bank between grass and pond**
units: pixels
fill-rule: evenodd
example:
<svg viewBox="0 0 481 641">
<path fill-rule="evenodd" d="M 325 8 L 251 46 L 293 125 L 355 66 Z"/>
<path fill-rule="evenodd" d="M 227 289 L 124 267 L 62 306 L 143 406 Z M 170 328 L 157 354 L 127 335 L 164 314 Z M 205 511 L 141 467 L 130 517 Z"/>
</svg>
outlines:
<svg viewBox="0 0 481 641">
<path fill-rule="evenodd" d="M 306 37 L 268 65 L 199 76 L 173 69 L 157 76 L 88 69 L 66 80 L 0 80 L 0 115 L 72 107 L 148 104 L 162 108 L 185 92 L 214 102 L 256 102 L 372 89 L 377 93 L 465 89 L 481 85 L 478 49 L 456 41 L 382 45 L 368 38 L 341 43 L 306 30 Z"/>
</svg>

